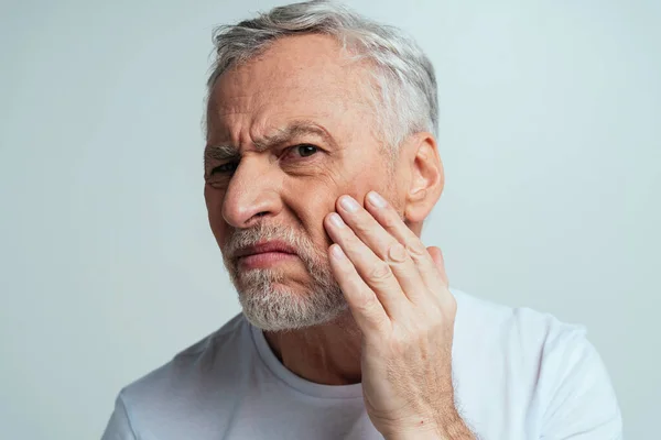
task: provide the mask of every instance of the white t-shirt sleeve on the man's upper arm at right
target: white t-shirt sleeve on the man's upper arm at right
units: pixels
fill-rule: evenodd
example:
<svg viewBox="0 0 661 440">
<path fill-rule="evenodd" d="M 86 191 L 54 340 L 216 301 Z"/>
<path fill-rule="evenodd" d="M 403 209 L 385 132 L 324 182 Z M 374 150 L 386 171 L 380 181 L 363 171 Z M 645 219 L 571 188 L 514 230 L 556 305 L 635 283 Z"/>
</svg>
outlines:
<svg viewBox="0 0 661 440">
<path fill-rule="evenodd" d="M 622 420 L 610 377 L 585 330 L 561 332 L 546 346 L 544 440 L 621 440 Z"/>
</svg>

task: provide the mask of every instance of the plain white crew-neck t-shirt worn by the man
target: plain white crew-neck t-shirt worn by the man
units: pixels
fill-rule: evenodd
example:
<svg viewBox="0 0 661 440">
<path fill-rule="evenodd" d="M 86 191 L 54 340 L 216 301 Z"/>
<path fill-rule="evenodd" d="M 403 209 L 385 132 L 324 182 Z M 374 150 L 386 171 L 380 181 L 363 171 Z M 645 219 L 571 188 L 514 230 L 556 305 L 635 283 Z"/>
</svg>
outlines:
<svg viewBox="0 0 661 440">
<path fill-rule="evenodd" d="M 604 364 L 581 327 L 455 288 L 456 404 L 485 440 L 621 439 Z M 238 315 L 123 388 L 104 440 L 382 439 L 360 384 L 307 382 Z"/>
</svg>

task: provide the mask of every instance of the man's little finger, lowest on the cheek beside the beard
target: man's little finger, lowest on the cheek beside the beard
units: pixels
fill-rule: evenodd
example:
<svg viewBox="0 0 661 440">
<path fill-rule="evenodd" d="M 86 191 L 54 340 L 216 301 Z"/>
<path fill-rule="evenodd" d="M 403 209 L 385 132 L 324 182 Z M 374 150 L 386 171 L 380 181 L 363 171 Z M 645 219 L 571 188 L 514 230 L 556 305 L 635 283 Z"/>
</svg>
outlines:
<svg viewBox="0 0 661 440">
<path fill-rule="evenodd" d="M 333 275 L 342 289 L 349 310 L 362 334 L 384 334 L 390 318 L 376 294 L 360 277 L 354 264 L 349 261 L 339 244 L 334 243 L 328 249 L 328 261 Z"/>
</svg>

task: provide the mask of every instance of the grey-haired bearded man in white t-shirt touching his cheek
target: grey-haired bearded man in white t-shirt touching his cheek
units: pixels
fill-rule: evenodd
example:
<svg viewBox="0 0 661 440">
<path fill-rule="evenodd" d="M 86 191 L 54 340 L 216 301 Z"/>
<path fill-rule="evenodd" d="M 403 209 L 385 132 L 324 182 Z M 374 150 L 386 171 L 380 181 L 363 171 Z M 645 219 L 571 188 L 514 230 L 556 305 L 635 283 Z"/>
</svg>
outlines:
<svg viewBox="0 0 661 440">
<path fill-rule="evenodd" d="M 581 328 L 448 287 L 430 61 L 333 3 L 220 28 L 205 199 L 242 314 L 119 394 L 104 438 L 621 438 Z"/>
</svg>

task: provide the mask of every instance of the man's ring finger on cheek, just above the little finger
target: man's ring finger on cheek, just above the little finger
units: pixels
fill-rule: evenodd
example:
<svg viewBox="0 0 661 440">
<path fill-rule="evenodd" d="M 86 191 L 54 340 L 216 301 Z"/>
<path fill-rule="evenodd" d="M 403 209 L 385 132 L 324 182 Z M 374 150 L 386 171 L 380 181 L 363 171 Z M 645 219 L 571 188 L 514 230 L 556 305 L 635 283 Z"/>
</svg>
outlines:
<svg viewBox="0 0 661 440">
<path fill-rule="evenodd" d="M 383 309 L 391 318 L 397 318 L 409 306 L 392 271 L 386 262 L 356 237 L 337 212 L 324 219 L 330 239 L 339 244 L 362 280 L 375 292 Z"/>
</svg>

